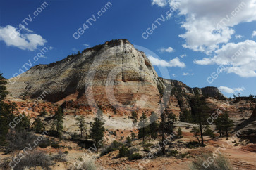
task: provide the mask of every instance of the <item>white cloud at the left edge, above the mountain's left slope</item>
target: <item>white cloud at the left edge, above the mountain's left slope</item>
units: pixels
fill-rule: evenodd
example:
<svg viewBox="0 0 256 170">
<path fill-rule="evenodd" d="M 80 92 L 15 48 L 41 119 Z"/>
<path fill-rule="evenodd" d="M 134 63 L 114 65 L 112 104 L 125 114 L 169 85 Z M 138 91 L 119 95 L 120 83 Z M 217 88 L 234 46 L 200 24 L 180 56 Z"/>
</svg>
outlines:
<svg viewBox="0 0 256 170">
<path fill-rule="evenodd" d="M 30 33 L 19 33 L 15 27 L 7 25 L 0 27 L 0 41 L 4 41 L 6 46 L 16 46 L 22 50 L 34 51 L 37 46 L 44 46 L 47 40 L 38 34 L 32 34 L 31 30 L 25 29 Z"/>
</svg>

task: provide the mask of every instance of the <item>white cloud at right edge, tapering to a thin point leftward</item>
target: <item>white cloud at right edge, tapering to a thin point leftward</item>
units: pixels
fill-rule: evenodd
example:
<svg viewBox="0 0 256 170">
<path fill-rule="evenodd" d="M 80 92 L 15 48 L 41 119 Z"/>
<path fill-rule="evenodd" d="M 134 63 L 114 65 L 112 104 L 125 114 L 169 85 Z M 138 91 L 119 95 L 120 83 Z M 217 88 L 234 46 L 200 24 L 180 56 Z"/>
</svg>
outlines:
<svg viewBox="0 0 256 170">
<path fill-rule="evenodd" d="M 215 51 L 213 58 L 194 60 L 197 65 L 224 65 L 228 73 L 240 77 L 256 77 L 256 42 L 246 40 L 238 44 L 228 43 Z"/>
</svg>

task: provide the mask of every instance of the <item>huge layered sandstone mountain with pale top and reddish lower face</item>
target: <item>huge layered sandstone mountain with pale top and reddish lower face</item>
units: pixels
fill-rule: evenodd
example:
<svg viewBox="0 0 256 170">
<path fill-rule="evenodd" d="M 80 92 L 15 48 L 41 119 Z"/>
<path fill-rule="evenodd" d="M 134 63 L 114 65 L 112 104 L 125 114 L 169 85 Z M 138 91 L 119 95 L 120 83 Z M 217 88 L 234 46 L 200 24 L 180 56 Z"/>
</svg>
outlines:
<svg viewBox="0 0 256 170">
<path fill-rule="evenodd" d="M 154 111 L 159 109 L 159 81 L 191 95 L 224 97 L 216 87 L 190 88 L 181 81 L 159 78 L 145 53 L 126 39 L 107 41 L 56 63 L 32 67 L 7 88 L 16 98 L 26 92 L 30 98 L 50 102 L 72 99 L 83 105 L 108 107 L 113 112 L 118 108 Z M 190 107 L 188 100 L 183 100 L 178 112 Z"/>
</svg>

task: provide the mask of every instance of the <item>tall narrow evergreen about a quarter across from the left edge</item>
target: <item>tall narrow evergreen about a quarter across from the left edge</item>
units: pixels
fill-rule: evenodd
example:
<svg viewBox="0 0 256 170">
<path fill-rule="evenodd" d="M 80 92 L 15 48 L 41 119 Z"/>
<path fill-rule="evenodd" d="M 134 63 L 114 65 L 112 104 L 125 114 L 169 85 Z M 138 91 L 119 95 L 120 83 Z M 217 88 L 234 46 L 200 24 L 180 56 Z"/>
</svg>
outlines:
<svg viewBox="0 0 256 170">
<path fill-rule="evenodd" d="M 54 115 L 54 122 L 53 122 L 53 127 L 56 130 L 56 135 L 58 137 L 61 136 L 63 132 L 63 110 L 61 107 L 58 107 L 58 110 L 55 112 Z"/>
</svg>

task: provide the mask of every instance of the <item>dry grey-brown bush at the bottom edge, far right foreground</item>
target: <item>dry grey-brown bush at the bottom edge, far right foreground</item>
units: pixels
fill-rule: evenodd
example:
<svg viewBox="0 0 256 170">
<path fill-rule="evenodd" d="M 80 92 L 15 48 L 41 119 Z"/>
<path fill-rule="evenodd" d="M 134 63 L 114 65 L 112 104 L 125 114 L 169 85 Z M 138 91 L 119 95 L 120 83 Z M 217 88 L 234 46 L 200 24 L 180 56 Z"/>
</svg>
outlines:
<svg viewBox="0 0 256 170">
<path fill-rule="evenodd" d="M 204 154 L 202 157 L 198 157 L 192 164 L 191 169 L 201 170 L 201 169 L 221 169 L 221 170 L 231 170 L 231 164 L 229 163 L 228 159 L 224 157 L 224 155 L 219 154 L 217 158 L 214 159 L 212 164 L 204 164 L 207 162 L 207 159 L 212 157 L 212 154 Z"/>
</svg>

